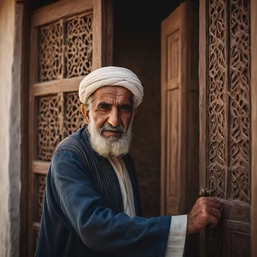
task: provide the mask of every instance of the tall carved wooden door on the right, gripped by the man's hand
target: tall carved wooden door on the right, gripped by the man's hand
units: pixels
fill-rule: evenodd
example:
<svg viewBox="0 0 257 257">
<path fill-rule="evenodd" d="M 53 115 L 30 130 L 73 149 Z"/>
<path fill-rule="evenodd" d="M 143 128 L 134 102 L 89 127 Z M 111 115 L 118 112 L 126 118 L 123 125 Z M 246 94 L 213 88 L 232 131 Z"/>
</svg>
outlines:
<svg viewBox="0 0 257 257">
<path fill-rule="evenodd" d="M 250 256 L 249 0 L 200 1 L 200 186 L 224 207 L 202 257 Z"/>
</svg>

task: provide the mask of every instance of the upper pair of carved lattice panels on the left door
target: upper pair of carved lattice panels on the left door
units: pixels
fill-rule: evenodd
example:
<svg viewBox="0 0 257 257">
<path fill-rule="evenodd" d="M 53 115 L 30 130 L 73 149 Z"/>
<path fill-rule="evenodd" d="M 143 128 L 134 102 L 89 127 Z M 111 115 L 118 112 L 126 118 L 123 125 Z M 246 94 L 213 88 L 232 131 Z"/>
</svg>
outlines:
<svg viewBox="0 0 257 257">
<path fill-rule="evenodd" d="M 92 14 L 80 14 L 39 28 L 39 82 L 89 74 L 92 22 Z"/>
</svg>

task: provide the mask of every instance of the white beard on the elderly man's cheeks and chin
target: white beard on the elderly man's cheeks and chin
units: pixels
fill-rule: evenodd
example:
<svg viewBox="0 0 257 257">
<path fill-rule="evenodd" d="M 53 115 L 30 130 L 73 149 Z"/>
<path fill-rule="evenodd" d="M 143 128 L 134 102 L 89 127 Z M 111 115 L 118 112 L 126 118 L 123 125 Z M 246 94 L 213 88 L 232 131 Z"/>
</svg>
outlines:
<svg viewBox="0 0 257 257">
<path fill-rule="evenodd" d="M 108 156 L 123 156 L 130 150 L 130 144 L 132 140 L 132 123 L 127 128 L 127 131 L 122 134 L 119 139 L 115 137 L 110 137 L 108 140 L 101 135 L 101 129 L 97 128 L 96 122 L 89 112 L 89 123 L 87 129 L 89 132 L 89 141 L 91 147 L 100 155 L 104 157 Z"/>
</svg>

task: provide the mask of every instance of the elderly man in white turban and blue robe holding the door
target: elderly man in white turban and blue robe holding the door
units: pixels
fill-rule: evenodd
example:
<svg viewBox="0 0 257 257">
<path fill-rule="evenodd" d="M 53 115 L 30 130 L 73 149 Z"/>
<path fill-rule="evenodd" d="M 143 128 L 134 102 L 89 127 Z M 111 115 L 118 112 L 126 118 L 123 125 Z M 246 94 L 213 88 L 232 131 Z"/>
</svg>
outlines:
<svg viewBox="0 0 257 257">
<path fill-rule="evenodd" d="M 52 157 L 35 256 L 182 256 L 186 235 L 216 226 L 221 206 L 200 198 L 188 215 L 144 218 L 133 160 L 138 77 L 120 67 L 87 75 L 79 96 L 86 128 Z"/>
</svg>

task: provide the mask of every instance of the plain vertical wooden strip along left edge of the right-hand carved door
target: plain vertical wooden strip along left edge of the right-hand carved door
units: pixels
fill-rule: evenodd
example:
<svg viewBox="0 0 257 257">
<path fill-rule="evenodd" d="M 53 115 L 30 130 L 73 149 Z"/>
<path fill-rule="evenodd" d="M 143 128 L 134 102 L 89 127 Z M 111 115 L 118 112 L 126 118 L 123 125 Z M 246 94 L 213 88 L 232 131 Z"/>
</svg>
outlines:
<svg viewBox="0 0 257 257">
<path fill-rule="evenodd" d="M 199 182 L 200 187 L 206 184 L 206 60 L 207 60 L 207 0 L 199 2 Z M 200 233 L 200 257 L 206 257 L 205 230 Z"/>
</svg>

